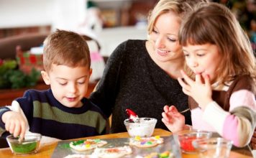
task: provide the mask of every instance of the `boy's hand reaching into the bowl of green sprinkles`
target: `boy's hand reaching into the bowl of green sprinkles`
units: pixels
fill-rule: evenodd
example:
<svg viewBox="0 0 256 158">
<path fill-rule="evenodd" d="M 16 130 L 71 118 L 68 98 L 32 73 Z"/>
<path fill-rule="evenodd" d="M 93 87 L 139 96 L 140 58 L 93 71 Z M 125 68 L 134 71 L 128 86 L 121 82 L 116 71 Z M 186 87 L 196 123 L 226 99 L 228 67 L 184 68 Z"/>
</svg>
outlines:
<svg viewBox="0 0 256 158">
<path fill-rule="evenodd" d="M 22 117 L 21 113 L 7 111 L 3 114 L 2 120 L 5 123 L 6 131 L 14 134 L 14 137 L 20 136 L 20 139 L 24 138 L 26 131 L 26 121 Z"/>
</svg>

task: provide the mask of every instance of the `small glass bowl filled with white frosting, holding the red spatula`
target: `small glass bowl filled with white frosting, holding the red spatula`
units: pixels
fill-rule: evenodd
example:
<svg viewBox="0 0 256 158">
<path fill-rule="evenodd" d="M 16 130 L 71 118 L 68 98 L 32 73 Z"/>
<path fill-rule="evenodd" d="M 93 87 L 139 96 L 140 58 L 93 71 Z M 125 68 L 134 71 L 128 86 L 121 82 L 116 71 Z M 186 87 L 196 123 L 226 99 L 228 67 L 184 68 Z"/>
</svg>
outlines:
<svg viewBox="0 0 256 158">
<path fill-rule="evenodd" d="M 129 119 L 124 120 L 129 136 L 149 137 L 152 136 L 157 119 L 142 117 L 139 122 L 130 122 Z"/>
</svg>

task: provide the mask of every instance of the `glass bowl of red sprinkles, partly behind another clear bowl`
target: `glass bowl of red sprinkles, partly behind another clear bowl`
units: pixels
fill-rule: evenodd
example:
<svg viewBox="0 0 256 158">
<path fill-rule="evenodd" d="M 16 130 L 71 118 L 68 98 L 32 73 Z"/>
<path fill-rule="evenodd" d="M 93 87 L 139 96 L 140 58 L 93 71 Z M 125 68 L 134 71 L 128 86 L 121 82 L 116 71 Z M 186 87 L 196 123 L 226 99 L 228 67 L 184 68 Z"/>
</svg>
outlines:
<svg viewBox="0 0 256 158">
<path fill-rule="evenodd" d="M 200 139 L 209 139 L 210 131 L 183 131 L 178 134 L 181 152 L 186 154 L 195 154 L 197 150 L 193 147 L 192 142 Z"/>
</svg>

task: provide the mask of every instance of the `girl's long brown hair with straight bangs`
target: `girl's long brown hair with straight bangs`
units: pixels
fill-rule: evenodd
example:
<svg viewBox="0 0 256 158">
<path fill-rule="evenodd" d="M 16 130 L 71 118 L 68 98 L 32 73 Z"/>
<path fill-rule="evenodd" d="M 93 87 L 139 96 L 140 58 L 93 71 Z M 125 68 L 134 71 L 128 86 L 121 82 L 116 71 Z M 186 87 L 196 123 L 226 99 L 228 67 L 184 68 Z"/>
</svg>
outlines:
<svg viewBox="0 0 256 158">
<path fill-rule="evenodd" d="M 250 75 L 255 80 L 255 56 L 250 40 L 234 14 L 222 4 L 198 5 L 198 9 L 183 21 L 179 42 L 183 46 L 210 43 L 219 48 L 222 60 L 216 71 L 216 81 L 225 83 L 237 75 Z M 193 77 L 188 67 L 186 71 Z"/>
</svg>

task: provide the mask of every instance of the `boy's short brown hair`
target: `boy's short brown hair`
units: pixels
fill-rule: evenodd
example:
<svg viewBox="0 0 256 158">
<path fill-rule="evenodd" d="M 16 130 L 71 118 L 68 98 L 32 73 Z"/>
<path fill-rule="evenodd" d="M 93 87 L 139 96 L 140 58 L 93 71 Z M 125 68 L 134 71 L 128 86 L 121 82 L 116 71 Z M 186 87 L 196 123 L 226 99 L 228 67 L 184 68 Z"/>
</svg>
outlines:
<svg viewBox="0 0 256 158">
<path fill-rule="evenodd" d="M 57 29 L 44 41 L 43 65 L 45 71 L 50 71 L 52 64 L 91 66 L 90 51 L 86 40 L 75 32 Z"/>
</svg>

